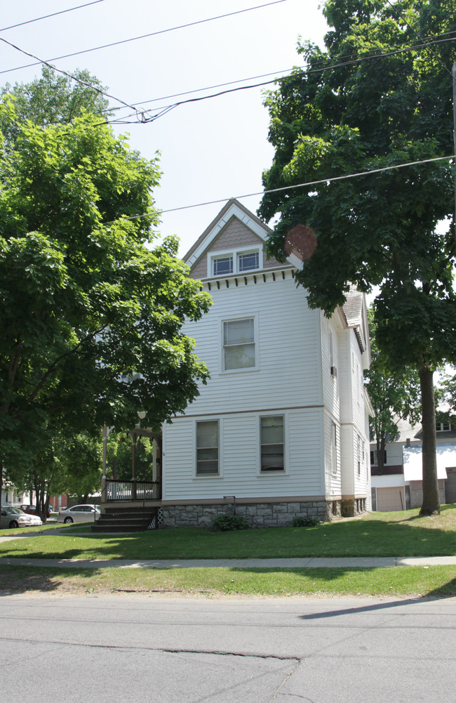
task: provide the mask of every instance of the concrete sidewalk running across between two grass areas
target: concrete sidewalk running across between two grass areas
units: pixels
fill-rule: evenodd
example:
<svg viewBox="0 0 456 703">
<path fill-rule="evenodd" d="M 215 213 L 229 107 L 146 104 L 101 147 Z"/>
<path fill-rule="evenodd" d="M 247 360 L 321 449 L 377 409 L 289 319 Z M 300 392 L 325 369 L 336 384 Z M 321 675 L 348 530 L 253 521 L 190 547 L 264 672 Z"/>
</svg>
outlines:
<svg viewBox="0 0 456 703">
<path fill-rule="evenodd" d="M 301 559 L 22 559 L 0 558 L 0 566 L 71 569 L 381 569 L 384 567 L 450 566 L 456 557 L 303 557 Z"/>
</svg>

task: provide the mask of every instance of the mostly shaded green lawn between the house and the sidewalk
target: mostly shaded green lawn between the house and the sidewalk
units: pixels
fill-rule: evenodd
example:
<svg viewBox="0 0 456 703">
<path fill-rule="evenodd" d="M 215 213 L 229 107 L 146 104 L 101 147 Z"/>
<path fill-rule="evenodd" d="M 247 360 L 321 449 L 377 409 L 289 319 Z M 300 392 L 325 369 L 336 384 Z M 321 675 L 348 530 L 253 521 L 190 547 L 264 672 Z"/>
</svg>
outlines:
<svg viewBox="0 0 456 703">
<path fill-rule="evenodd" d="M 65 559 L 248 559 L 268 557 L 456 555 L 456 508 L 418 517 L 418 510 L 374 512 L 360 519 L 316 527 L 269 527 L 234 532 L 202 528 L 93 535 L 72 525 L 0 544 L 0 556 Z M 62 527 L 62 526 L 60 526 Z M 77 532 L 86 530 L 79 536 Z M 22 530 L 22 533 L 25 529 Z M 0 534 L 11 534 L 4 530 Z"/>
</svg>

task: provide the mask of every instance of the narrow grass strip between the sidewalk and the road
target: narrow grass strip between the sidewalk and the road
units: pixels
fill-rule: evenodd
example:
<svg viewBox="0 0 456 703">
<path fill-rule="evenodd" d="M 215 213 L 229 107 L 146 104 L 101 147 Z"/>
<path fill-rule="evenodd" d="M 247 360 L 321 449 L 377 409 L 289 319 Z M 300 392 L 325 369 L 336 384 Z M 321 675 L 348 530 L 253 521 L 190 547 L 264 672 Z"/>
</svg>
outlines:
<svg viewBox="0 0 456 703">
<path fill-rule="evenodd" d="M 4 566 L 0 594 L 456 596 L 456 567 L 56 569 Z"/>
</svg>

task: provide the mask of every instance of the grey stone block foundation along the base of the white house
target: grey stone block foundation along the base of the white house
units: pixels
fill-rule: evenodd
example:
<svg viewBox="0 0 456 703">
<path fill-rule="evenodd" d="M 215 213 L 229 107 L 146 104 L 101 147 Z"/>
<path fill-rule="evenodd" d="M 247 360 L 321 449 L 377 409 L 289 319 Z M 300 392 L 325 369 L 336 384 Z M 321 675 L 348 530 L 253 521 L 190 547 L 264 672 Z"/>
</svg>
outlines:
<svg viewBox="0 0 456 703">
<path fill-rule="evenodd" d="M 308 501 L 297 503 L 249 503 L 242 504 L 237 499 L 236 515 L 242 515 L 251 527 L 285 527 L 294 517 L 319 517 L 331 520 L 343 514 L 344 501 Z M 351 515 L 365 510 L 365 499 L 351 501 Z M 364 503 L 364 504 L 363 504 Z M 352 512 L 353 511 L 353 512 Z M 209 527 L 214 517 L 233 512 L 232 506 L 203 505 L 163 505 L 160 527 Z"/>
</svg>

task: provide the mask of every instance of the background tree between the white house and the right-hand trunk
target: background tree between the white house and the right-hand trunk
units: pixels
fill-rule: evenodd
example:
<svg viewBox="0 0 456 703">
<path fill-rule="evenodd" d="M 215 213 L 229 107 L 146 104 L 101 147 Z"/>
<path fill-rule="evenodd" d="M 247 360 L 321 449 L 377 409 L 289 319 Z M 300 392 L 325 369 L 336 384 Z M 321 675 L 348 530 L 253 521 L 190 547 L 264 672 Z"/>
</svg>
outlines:
<svg viewBox="0 0 456 703">
<path fill-rule="evenodd" d="M 375 412 L 370 418 L 370 440 L 377 444 L 378 467 L 382 472 L 385 444 L 398 439 L 399 420 L 408 420 L 412 425 L 419 421 L 420 388 L 415 368 L 404 368 L 401 372 L 389 368 L 388 359 L 377 346 L 372 311 L 369 311 L 369 323 L 372 360 L 365 378 Z"/>
</svg>

